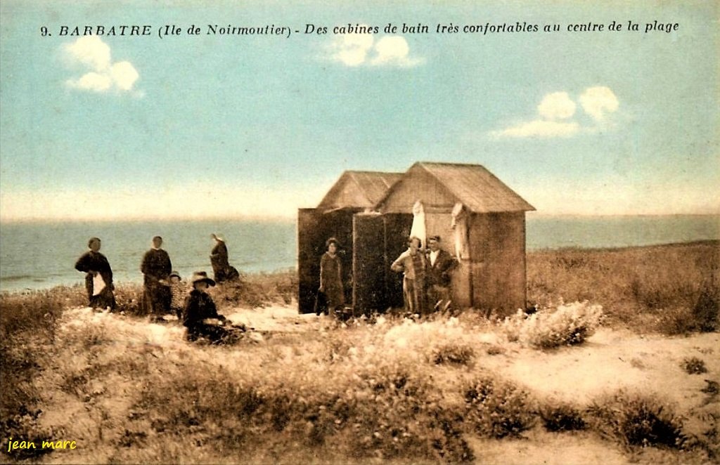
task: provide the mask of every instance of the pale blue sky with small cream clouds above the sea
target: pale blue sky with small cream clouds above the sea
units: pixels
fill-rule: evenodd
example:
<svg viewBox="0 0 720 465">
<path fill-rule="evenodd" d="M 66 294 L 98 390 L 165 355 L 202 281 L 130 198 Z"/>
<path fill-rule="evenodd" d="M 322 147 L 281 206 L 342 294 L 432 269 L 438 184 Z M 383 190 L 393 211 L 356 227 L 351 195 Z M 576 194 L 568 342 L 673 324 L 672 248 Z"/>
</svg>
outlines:
<svg viewBox="0 0 720 465">
<path fill-rule="evenodd" d="M 715 2 L 444 3 L 4 0 L 0 216 L 292 217 L 343 170 L 415 161 L 480 163 L 550 214 L 719 211 Z M 564 30 L 629 19 L 639 32 Z M 644 33 L 656 19 L 680 26 Z M 382 32 L 518 21 L 563 30 Z M 205 34 L 309 22 L 330 32 Z M 333 35 L 348 22 L 381 32 Z M 85 24 L 153 35 L 58 36 Z"/>
</svg>

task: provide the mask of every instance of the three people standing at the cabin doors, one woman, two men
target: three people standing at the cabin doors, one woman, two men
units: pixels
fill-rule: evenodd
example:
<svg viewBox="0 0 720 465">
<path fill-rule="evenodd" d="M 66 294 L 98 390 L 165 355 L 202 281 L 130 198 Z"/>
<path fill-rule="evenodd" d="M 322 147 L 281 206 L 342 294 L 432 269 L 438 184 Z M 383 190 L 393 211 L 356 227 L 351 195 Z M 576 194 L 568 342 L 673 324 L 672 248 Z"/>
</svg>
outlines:
<svg viewBox="0 0 720 465">
<path fill-rule="evenodd" d="M 428 248 L 423 248 L 420 238 L 408 240 L 408 250 L 392 262 L 390 269 L 402 273 L 402 294 L 405 312 L 427 315 L 435 311 L 446 312 L 451 305 L 452 271 L 456 259 L 441 248 L 441 238 L 428 238 Z M 327 251 L 320 258 L 320 287 L 315 301 L 315 314 L 329 311 L 342 312 L 345 307 L 345 286 L 336 238 L 325 242 Z"/>
</svg>

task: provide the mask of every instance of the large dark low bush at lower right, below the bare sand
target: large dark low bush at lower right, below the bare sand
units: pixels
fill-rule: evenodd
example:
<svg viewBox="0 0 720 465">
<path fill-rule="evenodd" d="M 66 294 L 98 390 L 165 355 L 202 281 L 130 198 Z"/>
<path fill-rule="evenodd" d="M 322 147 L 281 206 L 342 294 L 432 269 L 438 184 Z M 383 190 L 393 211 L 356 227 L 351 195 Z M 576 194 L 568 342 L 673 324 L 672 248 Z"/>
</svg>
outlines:
<svg viewBox="0 0 720 465">
<path fill-rule="evenodd" d="M 688 438 L 683 419 L 657 397 L 623 390 L 588 409 L 593 426 L 623 446 L 683 448 Z"/>
</svg>

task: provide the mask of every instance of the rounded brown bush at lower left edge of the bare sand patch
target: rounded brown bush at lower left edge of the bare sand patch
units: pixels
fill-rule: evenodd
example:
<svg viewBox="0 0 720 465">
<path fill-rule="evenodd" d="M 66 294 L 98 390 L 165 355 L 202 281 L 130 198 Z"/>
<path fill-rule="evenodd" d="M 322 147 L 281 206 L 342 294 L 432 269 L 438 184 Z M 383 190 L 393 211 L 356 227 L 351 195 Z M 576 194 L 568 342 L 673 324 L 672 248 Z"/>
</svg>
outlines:
<svg viewBox="0 0 720 465">
<path fill-rule="evenodd" d="M 487 438 L 517 437 L 536 420 L 528 392 L 490 376 L 470 382 L 464 400 L 465 420 Z"/>
</svg>

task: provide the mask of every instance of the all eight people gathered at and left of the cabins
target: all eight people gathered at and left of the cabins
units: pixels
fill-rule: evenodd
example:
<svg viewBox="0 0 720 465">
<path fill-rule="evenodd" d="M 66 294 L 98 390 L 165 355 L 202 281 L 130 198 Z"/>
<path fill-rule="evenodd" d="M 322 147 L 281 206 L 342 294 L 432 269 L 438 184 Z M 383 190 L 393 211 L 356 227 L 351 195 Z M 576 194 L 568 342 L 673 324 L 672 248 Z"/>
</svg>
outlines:
<svg viewBox="0 0 720 465">
<path fill-rule="evenodd" d="M 212 235 L 215 246 L 210 253 L 210 263 L 215 279 L 205 271 L 196 271 L 189 280 L 191 288 L 173 271 L 170 256 L 163 250 L 163 238 L 155 236 L 152 248 L 145 252 L 140 263 L 143 273 L 143 302 L 145 314 L 155 321 L 172 313 L 186 328 L 188 340 L 208 338 L 220 341 L 232 333 L 224 316 L 217 313 L 217 307 L 207 290 L 224 281 L 235 281 L 240 274 L 228 261 L 228 247 L 225 241 Z M 424 249 L 420 238 L 410 237 L 408 250 L 392 262 L 392 271 L 403 274 L 402 292 L 405 311 L 410 314 L 427 315 L 433 311 L 449 310 L 451 304 L 451 273 L 457 262 L 440 246 L 440 236 L 428 238 Z M 91 238 L 88 251 L 75 263 L 78 271 L 85 273 L 85 288 L 89 305 L 93 308 L 114 310 L 114 284 L 112 268 L 107 258 L 100 253 L 102 241 Z M 325 243 L 326 251 L 320 258 L 320 287 L 315 312 L 329 314 L 343 312 L 345 307 L 345 285 L 343 267 L 336 238 Z"/>
</svg>

